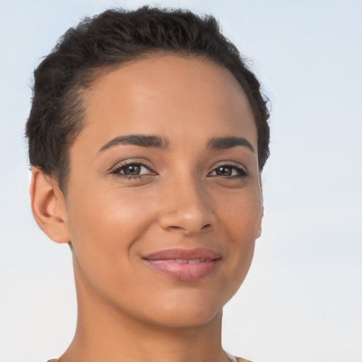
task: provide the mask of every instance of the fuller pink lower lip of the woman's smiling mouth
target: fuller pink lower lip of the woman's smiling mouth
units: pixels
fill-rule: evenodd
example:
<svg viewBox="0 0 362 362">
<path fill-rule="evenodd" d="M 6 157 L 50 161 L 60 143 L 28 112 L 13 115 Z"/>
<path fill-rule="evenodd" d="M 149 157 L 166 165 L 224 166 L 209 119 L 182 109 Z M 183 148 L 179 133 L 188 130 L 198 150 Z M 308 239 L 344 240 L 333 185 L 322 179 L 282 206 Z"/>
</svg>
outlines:
<svg viewBox="0 0 362 362">
<path fill-rule="evenodd" d="M 160 274 L 180 281 L 194 281 L 204 278 L 215 271 L 221 259 L 195 264 L 170 262 L 167 259 L 147 260 L 148 265 Z"/>
</svg>

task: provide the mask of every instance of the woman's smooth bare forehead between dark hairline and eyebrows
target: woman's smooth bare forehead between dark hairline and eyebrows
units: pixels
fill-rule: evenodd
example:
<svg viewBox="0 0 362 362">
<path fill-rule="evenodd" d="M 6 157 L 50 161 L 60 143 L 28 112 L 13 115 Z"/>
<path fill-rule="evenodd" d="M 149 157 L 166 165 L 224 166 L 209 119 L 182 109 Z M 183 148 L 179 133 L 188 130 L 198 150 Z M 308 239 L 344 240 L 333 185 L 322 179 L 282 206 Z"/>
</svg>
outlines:
<svg viewBox="0 0 362 362">
<path fill-rule="evenodd" d="M 235 77 L 201 58 L 157 55 L 101 75 L 84 95 L 86 127 L 78 136 L 104 144 L 123 134 L 162 134 L 180 144 L 199 135 L 257 132 Z M 220 134 L 223 133 L 223 134 Z"/>
</svg>

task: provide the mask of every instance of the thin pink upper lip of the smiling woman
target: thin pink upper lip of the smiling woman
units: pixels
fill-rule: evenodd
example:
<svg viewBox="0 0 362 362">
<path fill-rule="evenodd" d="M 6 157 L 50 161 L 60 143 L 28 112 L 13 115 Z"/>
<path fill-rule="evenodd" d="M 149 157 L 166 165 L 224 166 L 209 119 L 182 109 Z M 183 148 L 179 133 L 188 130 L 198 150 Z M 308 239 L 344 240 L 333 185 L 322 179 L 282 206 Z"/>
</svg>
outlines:
<svg viewBox="0 0 362 362">
<path fill-rule="evenodd" d="M 146 260 L 167 260 L 167 259 L 220 259 L 220 253 L 207 249 L 206 247 L 195 247 L 193 249 L 185 249 L 182 247 L 175 247 L 172 249 L 159 250 L 151 254 L 145 255 L 143 259 Z"/>
</svg>

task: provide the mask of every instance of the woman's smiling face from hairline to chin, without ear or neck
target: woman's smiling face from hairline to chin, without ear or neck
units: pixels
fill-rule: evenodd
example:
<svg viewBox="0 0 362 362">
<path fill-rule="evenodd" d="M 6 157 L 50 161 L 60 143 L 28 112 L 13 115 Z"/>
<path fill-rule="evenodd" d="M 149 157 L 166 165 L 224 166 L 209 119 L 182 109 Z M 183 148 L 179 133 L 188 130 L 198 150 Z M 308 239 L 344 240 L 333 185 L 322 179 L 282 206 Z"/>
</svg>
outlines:
<svg viewBox="0 0 362 362">
<path fill-rule="evenodd" d="M 101 76 L 70 149 L 78 293 L 157 325 L 200 325 L 243 282 L 262 219 L 257 130 L 233 76 L 156 56 Z"/>
</svg>

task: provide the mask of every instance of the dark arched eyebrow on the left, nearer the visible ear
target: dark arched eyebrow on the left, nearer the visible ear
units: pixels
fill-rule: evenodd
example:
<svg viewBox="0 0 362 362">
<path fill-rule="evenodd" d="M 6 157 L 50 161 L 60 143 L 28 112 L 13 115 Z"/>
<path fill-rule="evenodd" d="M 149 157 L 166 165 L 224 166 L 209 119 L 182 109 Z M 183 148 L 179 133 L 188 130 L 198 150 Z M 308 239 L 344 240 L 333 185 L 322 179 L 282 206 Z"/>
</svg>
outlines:
<svg viewBox="0 0 362 362">
<path fill-rule="evenodd" d="M 153 147 L 153 148 L 161 148 L 168 149 L 170 142 L 168 139 L 165 139 L 160 136 L 148 136 L 144 134 L 129 134 L 127 136 L 119 136 L 115 137 L 115 139 L 111 139 L 107 144 L 102 146 L 98 153 L 105 151 L 107 148 L 112 146 L 117 146 L 119 144 L 133 144 L 135 146 L 141 147 Z"/>
</svg>

